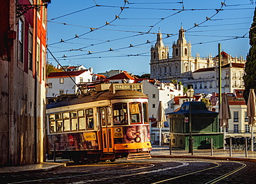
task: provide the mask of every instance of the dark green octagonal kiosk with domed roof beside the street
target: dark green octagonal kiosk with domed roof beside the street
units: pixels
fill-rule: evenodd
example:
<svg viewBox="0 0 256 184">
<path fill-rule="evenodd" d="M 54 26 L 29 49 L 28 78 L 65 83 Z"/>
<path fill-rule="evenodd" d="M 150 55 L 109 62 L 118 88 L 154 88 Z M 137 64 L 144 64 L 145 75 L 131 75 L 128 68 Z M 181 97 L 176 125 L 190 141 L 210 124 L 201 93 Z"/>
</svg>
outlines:
<svg viewBox="0 0 256 184">
<path fill-rule="evenodd" d="M 171 120 L 172 147 L 188 150 L 191 140 L 193 150 L 210 149 L 210 139 L 214 149 L 223 147 L 223 133 L 219 131 L 219 113 L 209 111 L 203 102 L 187 101 L 181 105 L 180 110 L 168 114 Z"/>
</svg>

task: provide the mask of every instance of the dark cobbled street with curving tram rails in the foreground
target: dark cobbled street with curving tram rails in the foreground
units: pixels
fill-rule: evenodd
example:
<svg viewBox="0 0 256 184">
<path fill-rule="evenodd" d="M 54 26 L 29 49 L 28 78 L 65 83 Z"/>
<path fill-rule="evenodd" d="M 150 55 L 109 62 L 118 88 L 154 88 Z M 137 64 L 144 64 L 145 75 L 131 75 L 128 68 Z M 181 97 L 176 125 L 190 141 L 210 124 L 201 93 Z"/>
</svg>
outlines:
<svg viewBox="0 0 256 184">
<path fill-rule="evenodd" d="M 73 173 L 60 170 L 54 172 L 56 175 L 41 174 L 37 179 L 26 178 L 12 183 L 219 183 L 232 181 L 232 177 L 237 177 L 234 174 L 239 174 L 246 166 L 237 161 L 150 159 L 147 163 L 71 165 L 65 170 Z"/>
</svg>

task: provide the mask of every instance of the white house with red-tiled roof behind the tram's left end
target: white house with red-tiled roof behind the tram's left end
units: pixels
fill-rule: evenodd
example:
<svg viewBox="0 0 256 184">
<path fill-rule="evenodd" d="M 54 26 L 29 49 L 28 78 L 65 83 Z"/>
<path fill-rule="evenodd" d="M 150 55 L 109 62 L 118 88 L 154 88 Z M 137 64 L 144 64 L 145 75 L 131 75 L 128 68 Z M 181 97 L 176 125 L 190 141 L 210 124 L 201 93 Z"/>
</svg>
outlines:
<svg viewBox="0 0 256 184">
<path fill-rule="evenodd" d="M 91 70 L 79 70 L 71 72 L 52 72 L 47 76 L 48 88 L 46 97 L 55 97 L 60 94 L 76 94 L 77 83 L 93 81 Z"/>
</svg>

